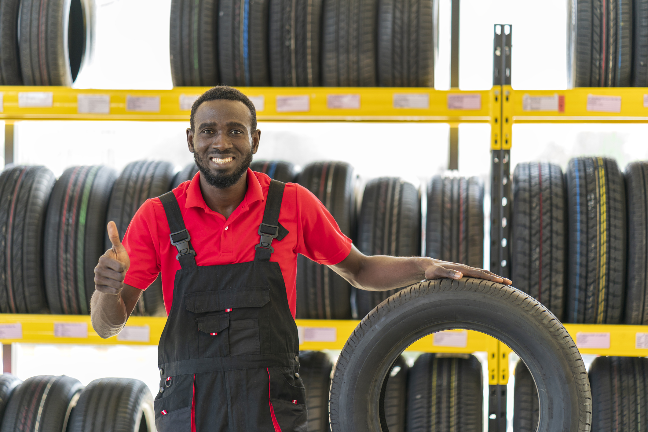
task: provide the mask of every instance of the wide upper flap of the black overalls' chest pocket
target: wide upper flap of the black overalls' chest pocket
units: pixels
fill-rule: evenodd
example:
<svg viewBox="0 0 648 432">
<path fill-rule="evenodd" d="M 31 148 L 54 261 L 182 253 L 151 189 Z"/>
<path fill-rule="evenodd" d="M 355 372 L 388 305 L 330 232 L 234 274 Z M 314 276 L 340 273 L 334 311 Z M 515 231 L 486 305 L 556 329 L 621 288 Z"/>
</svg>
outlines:
<svg viewBox="0 0 648 432">
<path fill-rule="evenodd" d="M 203 313 L 237 308 L 260 308 L 270 301 L 267 286 L 244 286 L 231 290 L 204 291 L 185 294 L 189 312 Z"/>
</svg>

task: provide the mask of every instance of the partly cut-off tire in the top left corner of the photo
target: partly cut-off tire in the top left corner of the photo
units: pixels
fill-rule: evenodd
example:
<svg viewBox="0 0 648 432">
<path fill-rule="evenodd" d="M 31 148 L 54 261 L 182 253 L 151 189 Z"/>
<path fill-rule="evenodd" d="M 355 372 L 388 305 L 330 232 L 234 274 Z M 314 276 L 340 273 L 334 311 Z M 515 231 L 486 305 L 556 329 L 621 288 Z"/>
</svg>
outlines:
<svg viewBox="0 0 648 432">
<path fill-rule="evenodd" d="M 0 85 L 23 85 L 18 55 L 20 0 L 0 3 Z"/>
</svg>

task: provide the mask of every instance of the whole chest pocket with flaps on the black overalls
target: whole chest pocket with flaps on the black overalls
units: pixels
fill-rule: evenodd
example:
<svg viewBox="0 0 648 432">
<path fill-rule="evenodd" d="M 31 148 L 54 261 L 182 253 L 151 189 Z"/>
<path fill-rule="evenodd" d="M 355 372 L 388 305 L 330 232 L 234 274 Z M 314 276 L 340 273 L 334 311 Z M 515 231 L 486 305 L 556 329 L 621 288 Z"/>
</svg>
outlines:
<svg viewBox="0 0 648 432">
<path fill-rule="evenodd" d="M 185 294 L 197 315 L 198 358 L 261 354 L 259 320 L 269 301 L 270 289 L 258 286 Z"/>
</svg>

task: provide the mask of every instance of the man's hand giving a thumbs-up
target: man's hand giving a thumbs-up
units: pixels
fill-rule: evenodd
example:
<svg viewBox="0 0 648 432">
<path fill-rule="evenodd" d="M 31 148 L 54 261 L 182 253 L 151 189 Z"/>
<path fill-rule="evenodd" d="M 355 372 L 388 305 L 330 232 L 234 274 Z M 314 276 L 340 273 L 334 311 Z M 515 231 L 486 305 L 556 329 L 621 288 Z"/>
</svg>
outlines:
<svg viewBox="0 0 648 432">
<path fill-rule="evenodd" d="M 119 241 L 115 222 L 108 222 L 108 238 L 113 247 L 99 258 L 95 267 L 95 290 L 117 295 L 124 288 L 124 277 L 130 267 L 130 258 L 126 248 Z"/>
</svg>

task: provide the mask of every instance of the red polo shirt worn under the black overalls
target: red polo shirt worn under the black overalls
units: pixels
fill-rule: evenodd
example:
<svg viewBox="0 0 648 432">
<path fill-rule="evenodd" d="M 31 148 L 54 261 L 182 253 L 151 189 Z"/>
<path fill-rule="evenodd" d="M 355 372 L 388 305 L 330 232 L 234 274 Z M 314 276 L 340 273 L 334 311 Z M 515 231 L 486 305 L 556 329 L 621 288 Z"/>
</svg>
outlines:
<svg viewBox="0 0 648 432">
<path fill-rule="evenodd" d="M 259 244 L 259 225 L 263 219 L 270 177 L 248 168 L 248 191 L 237 209 L 225 219 L 214 212 L 200 191 L 200 173 L 173 190 L 185 226 L 191 234 L 198 266 L 220 266 L 254 260 Z M 341 233 L 329 210 L 310 191 L 286 183 L 279 223 L 290 234 L 281 242 L 274 240 L 270 261 L 281 267 L 290 312 L 295 316 L 297 297 L 295 279 L 297 254 L 320 264 L 338 264 L 349 255 L 351 239 Z M 169 240 L 167 215 L 159 198 L 147 199 L 128 225 L 122 244 L 130 256 L 124 283 L 145 290 L 162 273 L 162 290 L 167 314 L 173 300 L 173 283 L 180 264 L 178 250 Z"/>
</svg>

